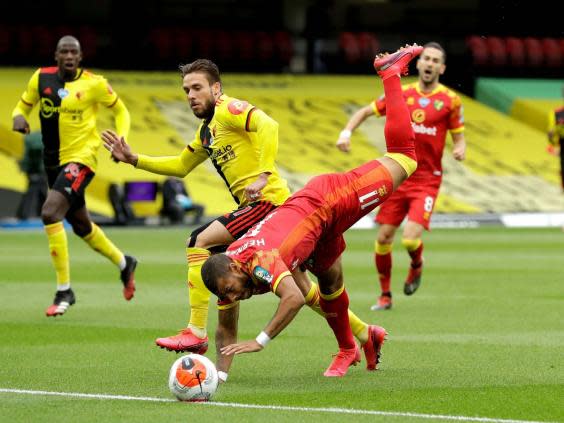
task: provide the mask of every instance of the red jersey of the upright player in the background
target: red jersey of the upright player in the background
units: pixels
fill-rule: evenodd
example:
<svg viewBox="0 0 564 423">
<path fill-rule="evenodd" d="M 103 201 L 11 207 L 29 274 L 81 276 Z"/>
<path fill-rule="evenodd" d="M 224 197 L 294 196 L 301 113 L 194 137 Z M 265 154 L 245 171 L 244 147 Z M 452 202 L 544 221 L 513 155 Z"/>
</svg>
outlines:
<svg viewBox="0 0 564 423">
<path fill-rule="evenodd" d="M 431 93 L 423 93 L 419 83 L 403 85 L 403 97 L 415 132 L 417 170 L 406 182 L 425 182 L 439 186 L 442 180 L 442 157 L 447 131 L 464 131 L 464 114 L 460 97 L 442 84 Z M 374 113 L 386 114 L 386 98 L 375 100 Z"/>
</svg>

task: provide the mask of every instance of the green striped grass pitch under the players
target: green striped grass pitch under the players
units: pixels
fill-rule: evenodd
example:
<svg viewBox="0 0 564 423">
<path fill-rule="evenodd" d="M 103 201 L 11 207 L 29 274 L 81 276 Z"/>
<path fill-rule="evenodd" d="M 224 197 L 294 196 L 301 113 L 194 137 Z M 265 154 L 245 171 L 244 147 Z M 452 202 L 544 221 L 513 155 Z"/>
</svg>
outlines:
<svg viewBox="0 0 564 423">
<path fill-rule="evenodd" d="M 264 351 L 235 359 L 214 398 L 221 406 L 9 391 L 172 398 L 167 375 L 177 355 L 154 340 L 186 324 L 189 228 L 106 233 L 139 259 L 135 298 L 122 298 L 117 269 L 69 231 L 77 303 L 48 319 L 55 282 L 45 235 L 0 232 L 0 421 L 564 421 L 559 229 L 435 229 L 425 235 L 423 283 L 412 297 L 402 292 L 408 259 L 397 242 L 394 305 L 386 312 L 370 311 L 378 293 L 375 232 L 349 231 L 343 264 L 351 308 L 389 332 L 377 372 L 363 362 L 344 378 L 324 378 L 336 342 L 304 308 Z M 240 339 L 254 338 L 276 304 L 272 294 L 242 303 Z M 212 334 L 215 322 L 212 303 Z M 215 361 L 213 336 L 208 356 Z"/>
</svg>

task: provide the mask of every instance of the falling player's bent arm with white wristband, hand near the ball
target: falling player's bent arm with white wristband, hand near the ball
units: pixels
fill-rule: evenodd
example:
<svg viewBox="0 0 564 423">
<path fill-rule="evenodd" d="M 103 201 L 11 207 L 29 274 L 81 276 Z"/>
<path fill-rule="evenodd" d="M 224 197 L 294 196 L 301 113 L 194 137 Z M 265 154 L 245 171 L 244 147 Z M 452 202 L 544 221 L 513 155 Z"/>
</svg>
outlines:
<svg viewBox="0 0 564 423">
<path fill-rule="evenodd" d="M 266 328 L 252 341 L 227 345 L 221 349 L 222 354 L 231 355 L 261 351 L 272 338 L 288 326 L 305 304 L 304 296 L 292 276 L 282 278 L 275 293 L 280 297 L 280 303 L 274 317 L 266 325 Z"/>
</svg>

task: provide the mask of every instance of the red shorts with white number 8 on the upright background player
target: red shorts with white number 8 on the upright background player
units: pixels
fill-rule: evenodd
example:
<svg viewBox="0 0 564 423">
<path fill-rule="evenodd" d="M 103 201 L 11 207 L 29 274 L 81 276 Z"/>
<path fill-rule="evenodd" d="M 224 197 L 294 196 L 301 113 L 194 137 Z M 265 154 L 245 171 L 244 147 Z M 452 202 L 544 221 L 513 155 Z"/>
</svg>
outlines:
<svg viewBox="0 0 564 423">
<path fill-rule="evenodd" d="M 409 184 L 406 181 L 380 206 L 374 220 L 379 224 L 399 226 L 407 216 L 409 221 L 429 230 L 438 194 L 439 187 L 436 185 Z"/>
</svg>

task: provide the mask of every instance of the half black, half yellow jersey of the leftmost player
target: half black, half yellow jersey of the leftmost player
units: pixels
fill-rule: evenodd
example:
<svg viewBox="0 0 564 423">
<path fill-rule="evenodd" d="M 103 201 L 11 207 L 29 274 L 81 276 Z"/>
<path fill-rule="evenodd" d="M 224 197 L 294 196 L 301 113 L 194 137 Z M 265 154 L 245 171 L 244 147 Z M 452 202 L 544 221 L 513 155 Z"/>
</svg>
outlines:
<svg viewBox="0 0 564 423">
<path fill-rule="evenodd" d="M 38 69 L 31 77 L 13 116 L 28 117 L 39 103 L 45 167 L 78 162 L 96 170 L 102 143 L 96 130 L 99 105 L 119 109 L 116 126 L 127 136 L 129 113 L 105 78 L 79 69 L 75 79 L 63 81 L 57 67 Z M 121 115 L 118 119 L 118 114 Z"/>
</svg>

